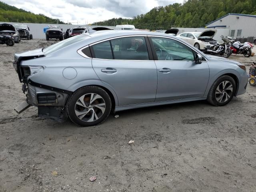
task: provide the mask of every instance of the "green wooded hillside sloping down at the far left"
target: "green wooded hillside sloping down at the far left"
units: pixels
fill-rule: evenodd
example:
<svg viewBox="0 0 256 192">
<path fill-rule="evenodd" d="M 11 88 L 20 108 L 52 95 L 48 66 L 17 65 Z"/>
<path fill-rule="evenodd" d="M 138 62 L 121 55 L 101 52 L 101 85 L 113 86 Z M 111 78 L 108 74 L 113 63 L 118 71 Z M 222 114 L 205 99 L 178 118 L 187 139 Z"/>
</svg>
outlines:
<svg viewBox="0 0 256 192">
<path fill-rule="evenodd" d="M 10 6 L 1 1 L 0 22 L 65 24 L 59 19 L 53 19 L 43 14 L 34 14 L 23 9 L 16 8 L 14 6 Z"/>
</svg>

